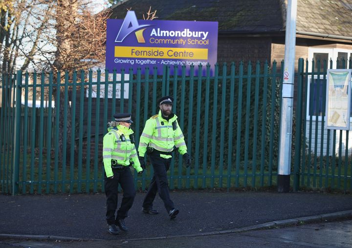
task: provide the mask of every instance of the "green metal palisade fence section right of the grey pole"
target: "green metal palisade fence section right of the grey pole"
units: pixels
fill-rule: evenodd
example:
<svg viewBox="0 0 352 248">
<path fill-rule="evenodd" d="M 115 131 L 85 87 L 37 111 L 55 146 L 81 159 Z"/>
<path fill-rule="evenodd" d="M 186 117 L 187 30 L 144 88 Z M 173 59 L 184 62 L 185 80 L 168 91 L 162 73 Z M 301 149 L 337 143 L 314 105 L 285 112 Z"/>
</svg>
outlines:
<svg viewBox="0 0 352 248">
<path fill-rule="evenodd" d="M 352 59 L 330 60 L 329 64 L 330 69 L 351 69 Z M 296 123 L 300 133 L 293 141 L 296 146 L 293 187 L 351 191 L 351 135 L 349 131 L 324 128 L 328 61 L 300 59 L 298 68 L 296 120 L 301 122 Z"/>
</svg>

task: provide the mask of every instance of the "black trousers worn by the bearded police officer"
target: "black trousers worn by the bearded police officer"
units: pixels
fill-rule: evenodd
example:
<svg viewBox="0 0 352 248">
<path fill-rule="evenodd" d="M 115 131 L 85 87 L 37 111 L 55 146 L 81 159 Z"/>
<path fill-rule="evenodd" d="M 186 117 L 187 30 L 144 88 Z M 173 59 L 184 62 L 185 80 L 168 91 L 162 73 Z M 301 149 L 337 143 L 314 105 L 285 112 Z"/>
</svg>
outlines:
<svg viewBox="0 0 352 248">
<path fill-rule="evenodd" d="M 170 199 L 168 179 L 166 174 L 170 168 L 171 158 L 164 159 L 160 157 L 160 155 L 156 152 L 153 152 L 148 156 L 154 168 L 154 175 L 151 184 L 148 187 L 147 194 L 144 197 L 143 207 L 145 209 L 152 209 L 156 192 L 158 192 L 160 198 L 164 202 L 166 211 L 169 213 L 171 209 L 175 208 L 173 201 Z"/>
</svg>

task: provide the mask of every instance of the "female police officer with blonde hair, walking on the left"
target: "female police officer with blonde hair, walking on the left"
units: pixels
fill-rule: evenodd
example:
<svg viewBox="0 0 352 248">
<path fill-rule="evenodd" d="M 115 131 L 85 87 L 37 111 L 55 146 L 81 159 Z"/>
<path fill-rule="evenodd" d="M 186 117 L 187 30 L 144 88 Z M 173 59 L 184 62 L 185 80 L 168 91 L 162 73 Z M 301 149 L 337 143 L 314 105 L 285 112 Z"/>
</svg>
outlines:
<svg viewBox="0 0 352 248">
<path fill-rule="evenodd" d="M 124 219 L 132 207 L 135 189 L 130 165 L 138 174 L 143 172 L 134 146 L 133 131 L 130 128 L 132 118 L 130 113 L 113 115 L 115 121 L 109 124 L 108 133 L 103 140 L 103 162 L 105 168 L 105 195 L 107 197 L 106 220 L 111 234 L 118 234 L 116 227 L 128 231 Z M 121 207 L 117 209 L 118 184 L 123 190 Z"/>
</svg>

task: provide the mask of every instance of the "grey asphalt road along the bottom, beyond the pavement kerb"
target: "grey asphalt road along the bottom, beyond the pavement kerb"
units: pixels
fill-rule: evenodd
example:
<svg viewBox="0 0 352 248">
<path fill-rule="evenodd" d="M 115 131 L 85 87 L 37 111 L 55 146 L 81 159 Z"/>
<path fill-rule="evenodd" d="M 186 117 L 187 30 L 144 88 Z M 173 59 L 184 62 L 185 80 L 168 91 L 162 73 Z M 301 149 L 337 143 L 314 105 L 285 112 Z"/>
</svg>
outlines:
<svg viewBox="0 0 352 248">
<path fill-rule="evenodd" d="M 320 222 L 241 233 L 110 241 L 0 240 L 1 248 L 351 248 L 352 220 Z"/>
</svg>

